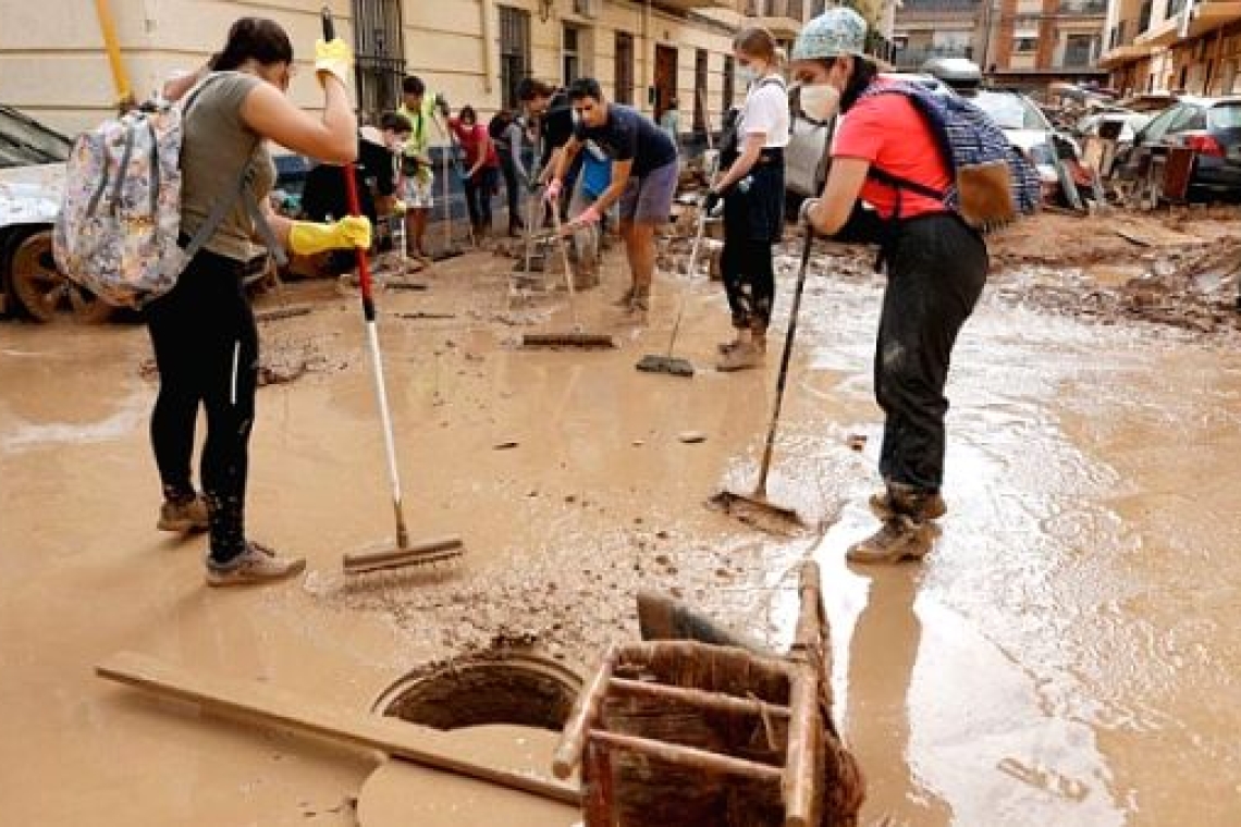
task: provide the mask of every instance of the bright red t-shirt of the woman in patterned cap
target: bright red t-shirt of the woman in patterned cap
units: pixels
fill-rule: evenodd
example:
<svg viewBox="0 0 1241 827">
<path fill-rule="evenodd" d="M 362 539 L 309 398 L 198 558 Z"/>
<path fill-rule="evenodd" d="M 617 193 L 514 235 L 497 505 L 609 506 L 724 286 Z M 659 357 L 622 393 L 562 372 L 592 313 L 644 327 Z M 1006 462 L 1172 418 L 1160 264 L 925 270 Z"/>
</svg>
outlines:
<svg viewBox="0 0 1241 827">
<path fill-rule="evenodd" d="M 896 92 L 855 103 L 840 119 L 831 156 L 862 159 L 885 172 L 938 191 L 947 190 L 951 184 L 948 167 L 926 118 L 916 104 Z M 896 212 L 896 190 L 886 184 L 866 179 L 861 198 L 874 205 L 882 218 L 891 218 Z M 947 211 L 942 201 L 910 190 L 901 192 L 901 218 Z"/>
</svg>

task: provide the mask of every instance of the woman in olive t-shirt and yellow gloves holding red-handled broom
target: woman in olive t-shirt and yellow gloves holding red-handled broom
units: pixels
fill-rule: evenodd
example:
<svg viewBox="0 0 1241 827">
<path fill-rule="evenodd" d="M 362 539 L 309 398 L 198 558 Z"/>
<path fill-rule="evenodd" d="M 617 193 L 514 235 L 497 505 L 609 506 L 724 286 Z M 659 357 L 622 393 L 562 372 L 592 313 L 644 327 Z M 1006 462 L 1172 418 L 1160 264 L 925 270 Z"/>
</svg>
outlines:
<svg viewBox="0 0 1241 827">
<path fill-rule="evenodd" d="M 172 82 L 165 95 L 187 95 L 181 139 L 181 231 L 185 243 L 208 222 L 238 175 L 249 169 L 247 190 L 192 254 L 176 285 L 145 310 L 159 368 L 159 394 L 151 414 L 151 445 L 164 487 L 159 528 L 207 528 L 207 585 L 262 583 L 305 568 L 298 557 L 277 554 L 246 536 L 248 445 L 258 387 L 258 329 L 242 285 L 251 241 L 264 229 L 269 239 L 295 253 L 369 247 L 370 222 L 290 221 L 273 211 L 268 193 L 276 166 L 271 140 L 330 164 L 357 154 L 357 122 L 346 79 L 352 55 L 340 40 L 319 42 L 315 71 L 323 87 L 321 118 L 287 97 L 293 45 L 276 22 L 243 17 L 228 30 L 222 51 L 192 89 Z M 262 224 L 252 219 L 259 212 Z M 202 448 L 202 496 L 195 493 L 190 462 L 200 404 L 207 414 Z"/>
</svg>

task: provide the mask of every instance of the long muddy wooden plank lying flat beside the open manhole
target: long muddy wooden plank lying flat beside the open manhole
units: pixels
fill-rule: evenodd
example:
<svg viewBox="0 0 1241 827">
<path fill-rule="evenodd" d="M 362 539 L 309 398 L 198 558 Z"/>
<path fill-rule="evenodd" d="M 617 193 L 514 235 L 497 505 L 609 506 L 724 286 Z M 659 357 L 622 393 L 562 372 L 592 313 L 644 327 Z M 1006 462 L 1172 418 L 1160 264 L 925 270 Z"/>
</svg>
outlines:
<svg viewBox="0 0 1241 827">
<path fill-rule="evenodd" d="M 257 681 L 195 674 L 137 652 L 120 652 L 94 667 L 96 674 L 161 698 L 199 704 L 225 718 L 282 727 L 329 740 L 375 749 L 407 761 L 455 772 L 552 801 L 577 806 L 575 785 L 486 764 L 444 733 L 397 718 L 329 707 Z"/>
</svg>

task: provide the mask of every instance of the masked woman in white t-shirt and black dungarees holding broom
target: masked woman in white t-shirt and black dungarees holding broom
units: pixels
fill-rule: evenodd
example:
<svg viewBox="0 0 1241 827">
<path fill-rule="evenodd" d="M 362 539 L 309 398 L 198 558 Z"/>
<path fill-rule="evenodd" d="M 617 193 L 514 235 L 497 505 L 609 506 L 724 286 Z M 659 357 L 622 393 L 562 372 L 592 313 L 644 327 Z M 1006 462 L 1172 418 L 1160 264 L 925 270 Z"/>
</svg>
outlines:
<svg viewBox="0 0 1241 827">
<path fill-rule="evenodd" d="M 732 41 L 733 57 L 748 78 L 746 102 L 724 141 L 724 170 L 704 202 L 724 201 L 720 269 L 732 311 L 735 338 L 720 346 L 721 371 L 763 363 L 767 326 L 776 301 L 772 244 L 784 229 L 784 148 L 789 139 L 788 92 L 779 73 L 776 38 L 755 26 Z"/>
</svg>

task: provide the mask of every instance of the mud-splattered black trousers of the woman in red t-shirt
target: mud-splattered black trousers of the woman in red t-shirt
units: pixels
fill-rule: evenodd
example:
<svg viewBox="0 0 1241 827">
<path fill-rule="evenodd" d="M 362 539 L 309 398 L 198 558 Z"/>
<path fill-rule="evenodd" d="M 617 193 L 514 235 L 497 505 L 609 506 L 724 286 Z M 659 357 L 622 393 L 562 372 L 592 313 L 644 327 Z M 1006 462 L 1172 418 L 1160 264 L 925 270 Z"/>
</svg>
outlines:
<svg viewBox="0 0 1241 827">
<path fill-rule="evenodd" d="M 987 245 L 954 216 L 921 216 L 898 224 L 885 258 L 875 352 L 875 398 L 886 415 L 879 470 L 889 482 L 938 491 L 943 388 L 957 332 L 987 281 Z"/>
</svg>

